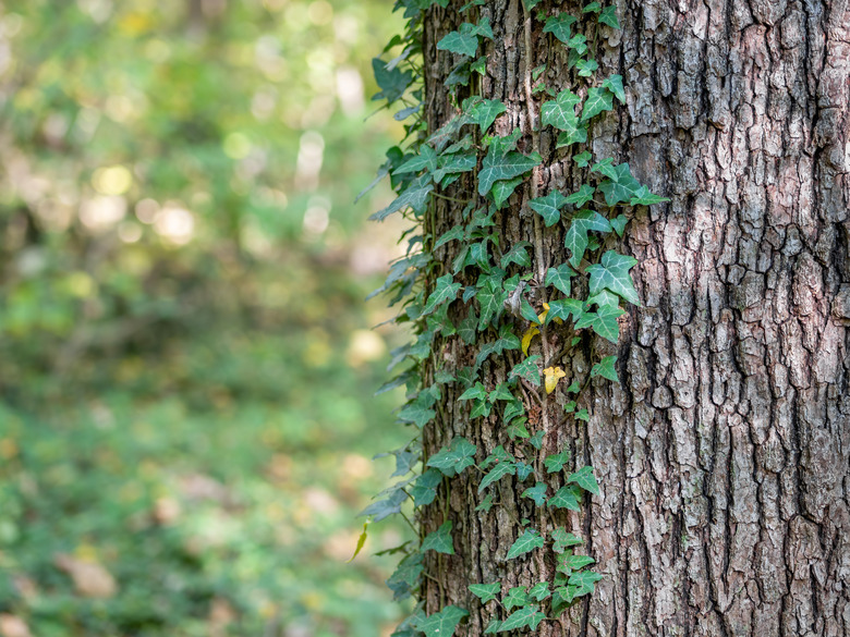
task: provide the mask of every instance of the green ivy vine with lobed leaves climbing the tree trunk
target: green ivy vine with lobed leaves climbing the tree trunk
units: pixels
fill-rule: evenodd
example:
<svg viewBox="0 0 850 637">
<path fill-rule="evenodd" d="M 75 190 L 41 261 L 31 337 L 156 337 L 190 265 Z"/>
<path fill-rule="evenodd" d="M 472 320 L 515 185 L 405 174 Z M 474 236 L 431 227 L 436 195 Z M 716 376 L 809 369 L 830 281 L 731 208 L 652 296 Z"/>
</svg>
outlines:
<svg viewBox="0 0 850 637">
<path fill-rule="evenodd" d="M 564 417 L 587 421 L 587 409 L 580 408 L 583 389 L 596 377 L 618 382 L 616 356 L 599 357 L 584 375 L 574 369 L 568 372 L 558 363 L 583 342 L 593 343 L 588 334 L 617 344 L 618 319 L 624 314 L 621 303 L 636 305 L 640 301 L 631 278 L 638 261 L 618 253 L 616 244 L 634 207 L 667 199 L 640 184 L 628 163 L 594 158 L 588 148 L 593 122 L 614 110 L 615 100 L 626 102 L 622 77 L 598 77 L 599 65 L 593 58 L 599 30 L 620 28 L 615 8 L 590 2 L 580 15 L 572 15 L 547 8 L 544 0 L 523 0 L 525 59 L 532 59 L 532 23 L 536 20 L 543 24 L 544 37 L 567 48 L 568 66 L 574 70 L 573 85 L 556 89 L 545 82 L 545 66 L 526 69 L 523 82 L 529 126 L 524 137 L 520 128 L 509 135 L 490 134 L 508 108 L 475 91 L 481 84 L 476 78 L 487 73 L 486 42 L 494 38 L 489 21 L 479 15 L 478 8 L 485 3 L 472 0 L 463 5 L 459 11 L 466 20 L 437 42 L 439 54 L 450 56 L 454 62 L 446 86 L 457 107 L 454 117 L 440 130 L 429 134 L 423 118 L 422 30 L 425 13 L 433 5 L 448 7 L 449 0 L 397 0 L 396 10 L 403 12 L 406 26 L 384 52 L 401 52 L 389 61 L 376 58 L 373 62 L 380 87 L 374 99 L 384 100 L 386 108 L 401 105 L 394 117 L 408 123 L 404 139 L 387 152 L 387 161 L 372 184 L 389 175 L 398 197 L 372 219 L 400 213 L 418 230 L 406 237 L 408 254 L 391 265 L 387 281 L 374 293 L 387 294 L 391 306 L 400 305 L 397 320 L 410 322 L 415 335 L 414 342 L 392 353 L 392 366 L 406 367 L 379 391 L 406 388 L 408 402 L 399 420 L 413 426 L 416 436 L 406 446 L 391 452 L 397 461 L 393 477 L 403 479 L 362 512 L 369 522 L 357 551 L 369 523 L 404 515 L 402 507 L 409 501 L 414 510 L 429 506 L 442 490 L 448 503 L 452 480 L 464 471 L 477 475 L 479 502 L 475 511 L 484 515 L 493 514 L 493 507 L 499 505 L 500 488 L 511 480 L 522 489 L 521 498 L 533 503 L 541 515 L 534 522 L 515 520 L 515 541 L 503 559 L 524 560 L 544 551 L 554 560 L 556 574 L 550 581 L 508 590 L 500 581 L 471 585 L 466 605 L 486 608 L 490 622 L 485 633 L 494 634 L 535 630 L 541 622 L 557 620 L 593 593 L 602 579 L 590 568 L 593 558 L 581 552 L 582 538 L 573 529 L 547 524 L 554 518 L 544 514 L 558 509 L 581 511 L 586 498 L 599 494 L 593 467 L 571 470 L 568 450 L 542 457 L 544 437 L 552 428 L 546 405 L 563 383 L 562 394 L 569 396 L 562 404 Z M 542 100 L 539 110 L 536 100 Z M 544 128 L 557 132 L 558 152 L 569 156 L 575 168 L 584 171 L 586 181 L 575 192 L 539 194 L 536 180 L 532 180 L 527 209 L 534 217 L 534 242 L 505 245 L 497 216 L 520 213 L 510 198 L 543 166 L 539 133 Z M 527 136 L 531 147 L 519 150 Z M 429 213 L 436 199 L 462 209 L 462 222 L 439 235 Z M 543 238 L 564 225 L 563 243 L 570 257 L 546 267 Z M 436 250 L 452 242 L 458 249 L 451 264 L 435 258 Z M 557 342 L 566 343 L 557 351 L 554 332 L 560 336 Z M 437 356 L 434 346 L 438 336 L 459 339 L 474 347 L 474 364 L 456 367 Z M 515 352 L 519 362 L 510 367 L 505 381 L 488 384 L 490 377 L 483 373 L 488 360 L 505 357 L 507 352 Z M 573 376 L 567 379 L 569 375 Z M 503 424 L 501 444 L 484 450 L 457 437 L 429 457 L 422 457 L 421 431 L 432 420 L 445 422 L 438 412 L 444 388 L 449 385 L 462 389 L 458 401 L 467 405 L 470 419 L 498 417 Z M 541 407 L 542 422 L 529 420 L 533 403 Z M 440 526 L 424 536 L 409 517 L 405 519 L 420 537 L 420 544 L 398 549 L 403 556 L 387 581 L 397 600 L 416 595 L 423 577 L 440 583 L 425 571 L 428 551 L 438 556 L 454 553 L 448 509 Z M 440 559 L 436 563 L 441 567 Z M 450 637 L 469 611 L 447 605 L 440 592 L 439 611 L 426 615 L 420 603 L 393 635 Z"/>
</svg>

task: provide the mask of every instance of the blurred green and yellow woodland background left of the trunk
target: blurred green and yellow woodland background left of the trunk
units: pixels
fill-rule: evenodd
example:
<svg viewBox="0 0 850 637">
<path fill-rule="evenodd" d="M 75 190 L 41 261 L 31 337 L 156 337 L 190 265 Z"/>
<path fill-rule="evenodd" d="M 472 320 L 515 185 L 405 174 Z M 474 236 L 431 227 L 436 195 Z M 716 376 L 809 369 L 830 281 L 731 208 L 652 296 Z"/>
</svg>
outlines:
<svg viewBox="0 0 850 637">
<path fill-rule="evenodd" d="M 388 0 L 0 2 L 0 635 L 374 636 Z M 365 119 L 365 122 L 364 122 Z"/>
</svg>

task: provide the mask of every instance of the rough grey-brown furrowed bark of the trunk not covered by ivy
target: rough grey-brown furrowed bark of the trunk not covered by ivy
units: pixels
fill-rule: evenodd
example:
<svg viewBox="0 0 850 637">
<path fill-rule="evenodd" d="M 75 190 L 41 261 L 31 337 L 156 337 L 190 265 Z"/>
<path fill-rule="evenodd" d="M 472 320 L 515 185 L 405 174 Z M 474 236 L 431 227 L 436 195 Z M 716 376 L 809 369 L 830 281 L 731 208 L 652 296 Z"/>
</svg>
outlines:
<svg viewBox="0 0 850 637">
<path fill-rule="evenodd" d="M 451 56 L 435 42 L 457 28 L 463 3 L 426 20 L 432 130 L 453 113 L 442 87 Z M 526 69 L 547 63 L 549 86 L 574 86 L 566 50 L 535 21 L 526 66 L 519 0 L 481 12 L 496 34 L 482 94 L 509 107 L 501 134 L 529 133 Z M 597 343 L 594 354 L 619 354 L 621 384 L 585 390 L 586 427 L 559 421 L 560 390 L 546 402 L 544 451 L 570 448 L 602 487 L 585 515 L 557 519 L 584 535 L 605 579 L 537 634 L 850 635 L 850 5 L 620 0 L 618 15 L 623 30 L 603 29 L 610 39 L 600 37 L 596 59 L 600 73 L 623 76 L 627 106 L 592 128 L 590 147 L 630 162 L 672 201 L 638 209 L 627 229 L 642 307 L 621 319 L 618 348 Z M 531 150 L 531 134 L 524 144 Z M 555 137 L 544 131 L 539 145 L 548 167 L 535 173 L 539 194 L 576 189 L 581 175 Z M 514 195 L 500 218 L 506 246 L 533 241 L 530 194 Z M 459 220 L 441 204 L 429 220 L 436 234 Z M 567 259 L 564 230 L 546 230 L 546 267 Z M 446 249 L 437 256 L 449 260 Z M 558 363 L 566 381 L 586 372 L 593 342 Z M 471 354 L 456 338 L 442 355 L 462 366 Z M 512 363 L 485 371 L 501 380 Z M 482 460 L 507 441 L 456 399 L 444 395 L 426 451 L 465 436 Z M 531 416 L 539 428 L 539 411 Z M 505 562 L 518 535 L 509 514 L 538 514 L 507 480 L 501 506 L 475 513 L 477 481 L 469 471 L 452 480 L 457 555 L 434 558 L 441 586 L 423 585 L 429 612 L 440 595 L 471 610 L 465 635 L 481 635 L 496 612 L 495 602 L 481 610 L 469 584 L 552 575 L 542 560 Z M 445 504 L 425 511 L 425 531 Z"/>
</svg>

